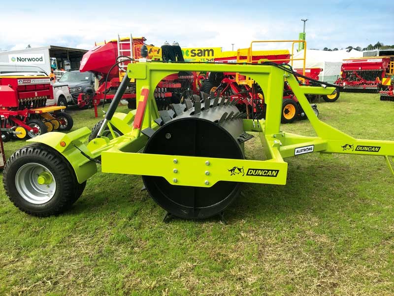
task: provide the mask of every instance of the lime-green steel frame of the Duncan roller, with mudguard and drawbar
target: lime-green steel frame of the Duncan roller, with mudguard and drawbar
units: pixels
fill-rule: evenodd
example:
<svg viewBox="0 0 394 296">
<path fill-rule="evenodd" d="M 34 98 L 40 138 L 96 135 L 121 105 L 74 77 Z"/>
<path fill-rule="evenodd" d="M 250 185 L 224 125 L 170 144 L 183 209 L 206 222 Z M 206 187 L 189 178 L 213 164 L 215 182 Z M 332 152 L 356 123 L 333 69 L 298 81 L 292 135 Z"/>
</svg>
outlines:
<svg viewBox="0 0 394 296">
<path fill-rule="evenodd" d="M 141 131 L 159 128 L 155 122 L 159 112 L 153 90 L 165 76 L 179 71 L 235 72 L 250 76 L 261 86 L 267 105 L 265 120 L 243 119 L 243 126 L 247 132 L 259 133 L 265 160 L 138 153 L 148 140 Z M 136 79 L 137 110 L 128 114 L 115 113 L 108 122 L 111 131 L 115 126 L 123 136 L 112 140 L 100 137 L 84 145 L 83 141 L 90 130 L 82 128 L 66 135 L 48 133 L 29 141 L 44 143 L 60 151 L 74 168 L 80 183 L 97 172 L 96 164 L 82 155 L 80 150 L 91 158 L 101 156 L 102 172 L 162 176 L 173 185 L 210 187 L 219 181 L 285 185 L 287 163 L 284 158 L 309 152 L 383 156 L 394 175 L 389 159 L 389 156 L 394 156 L 394 141 L 355 139 L 317 118 L 305 94 L 329 95 L 335 91 L 334 88 L 300 86 L 294 75 L 265 65 L 139 62 L 129 64 L 127 74 L 129 78 Z M 285 80 L 293 89 L 317 137 L 304 137 L 280 130 Z M 137 117 L 143 119 L 141 126 L 135 125 L 134 119 Z M 229 169 L 233 167 L 243 168 L 242 173 L 231 175 Z M 209 175 L 205 174 L 207 170 Z"/>
</svg>

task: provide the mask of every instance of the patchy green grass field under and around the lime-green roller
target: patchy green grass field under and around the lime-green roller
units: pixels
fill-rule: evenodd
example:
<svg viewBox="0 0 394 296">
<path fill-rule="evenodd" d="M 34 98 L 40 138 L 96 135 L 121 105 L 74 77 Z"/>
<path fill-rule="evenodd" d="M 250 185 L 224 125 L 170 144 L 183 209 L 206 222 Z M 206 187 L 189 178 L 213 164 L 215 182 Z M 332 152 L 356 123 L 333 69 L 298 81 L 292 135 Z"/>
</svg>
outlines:
<svg viewBox="0 0 394 296">
<path fill-rule="evenodd" d="M 378 95 L 318 108 L 352 136 L 394 140 L 394 103 Z M 73 130 L 98 121 L 70 113 Z M 308 121 L 282 128 L 314 134 Z M 5 143 L 6 156 L 24 145 Z M 257 138 L 246 146 L 262 158 Z M 162 222 L 139 176 L 98 173 L 70 211 L 43 219 L 1 186 L 0 295 L 394 295 L 394 178 L 383 157 L 287 161 L 287 185 L 243 185 L 227 223 Z"/>
</svg>

